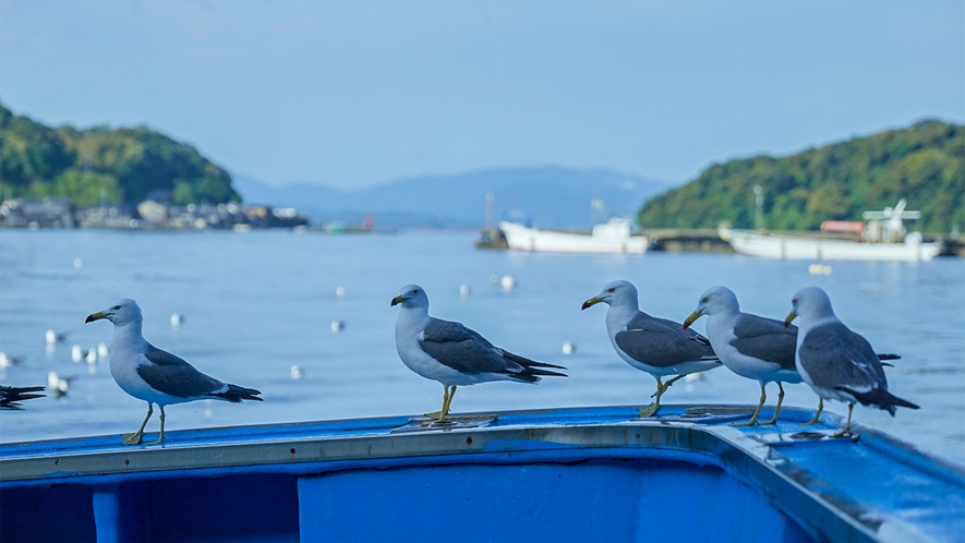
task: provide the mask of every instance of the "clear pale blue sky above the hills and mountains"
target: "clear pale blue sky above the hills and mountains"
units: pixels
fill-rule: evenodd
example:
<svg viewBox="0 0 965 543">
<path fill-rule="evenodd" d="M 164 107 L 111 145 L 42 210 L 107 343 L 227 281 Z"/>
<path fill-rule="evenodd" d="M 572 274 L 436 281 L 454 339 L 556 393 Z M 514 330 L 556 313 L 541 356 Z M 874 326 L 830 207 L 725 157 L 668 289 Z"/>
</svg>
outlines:
<svg viewBox="0 0 965 543">
<path fill-rule="evenodd" d="M 0 0 L 0 100 L 274 185 L 493 167 L 672 184 L 965 121 L 965 2 Z"/>
</svg>

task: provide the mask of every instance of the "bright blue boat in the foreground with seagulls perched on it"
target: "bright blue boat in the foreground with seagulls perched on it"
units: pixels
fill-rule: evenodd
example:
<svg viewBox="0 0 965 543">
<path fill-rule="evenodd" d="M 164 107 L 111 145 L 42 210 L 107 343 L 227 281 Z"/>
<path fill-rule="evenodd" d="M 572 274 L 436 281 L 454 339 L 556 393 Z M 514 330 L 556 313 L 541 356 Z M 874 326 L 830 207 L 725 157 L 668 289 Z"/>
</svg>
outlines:
<svg viewBox="0 0 965 543">
<path fill-rule="evenodd" d="M 746 406 L 391 417 L 0 446 L 0 540 L 965 541 L 965 468 Z"/>
</svg>

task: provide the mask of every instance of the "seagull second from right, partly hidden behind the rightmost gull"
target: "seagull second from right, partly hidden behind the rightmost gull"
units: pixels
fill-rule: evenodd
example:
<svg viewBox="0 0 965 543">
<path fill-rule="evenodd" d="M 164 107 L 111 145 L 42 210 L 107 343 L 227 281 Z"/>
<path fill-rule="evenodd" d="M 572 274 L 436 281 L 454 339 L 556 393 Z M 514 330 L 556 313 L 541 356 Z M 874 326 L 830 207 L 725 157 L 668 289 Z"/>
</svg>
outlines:
<svg viewBox="0 0 965 543">
<path fill-rule="evenodd" d="M 797 330 L 786 328 L 784 323 L 774 318 L 741 313 L 737 297 L 726 287 L 711 287 L 701 294 L 697 309 L 684 321 L 684 328 L 701 315 L 708 315 L 707 335 L 721 362 L 737 375 L 761 385 L 761 399 L 750 420 L 734 425 L 752 426 L 758 423 L 758 415 L 768 399 L 768 383 L 777 383 L 777 406 L 771 420 L 761 424 L 776 423 L 784 401 L 783 384 L 801 381 L 794 366 Z M 817 417 L 815 414 L 815 419 Z"/>
</svg>

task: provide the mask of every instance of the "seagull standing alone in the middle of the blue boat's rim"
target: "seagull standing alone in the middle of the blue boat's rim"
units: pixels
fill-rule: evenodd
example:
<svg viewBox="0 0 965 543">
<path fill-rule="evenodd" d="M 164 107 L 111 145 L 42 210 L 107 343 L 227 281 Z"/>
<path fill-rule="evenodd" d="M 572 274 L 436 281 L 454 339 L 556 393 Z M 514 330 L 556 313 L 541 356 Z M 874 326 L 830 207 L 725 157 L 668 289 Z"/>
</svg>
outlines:
<svg viewBox="0 0 965 543">
<path fill-rule="evenodd" d="M 402 287 L 390 305 L 400 305 L 396 319 L 396 350 L 417 374 L 443 385 L 443 408 L 426 417 L 443 422 L 457 386 L 488 381 L 536 383 L 543 375 L 566 377 L 560 365 L 534 362 L 499 349 L 460 323 L 429 315 L 429 297 L 418 285 Z"/>
</svg>

